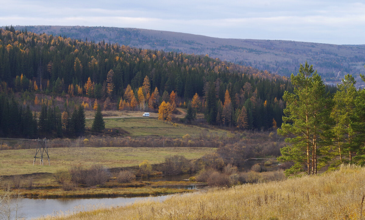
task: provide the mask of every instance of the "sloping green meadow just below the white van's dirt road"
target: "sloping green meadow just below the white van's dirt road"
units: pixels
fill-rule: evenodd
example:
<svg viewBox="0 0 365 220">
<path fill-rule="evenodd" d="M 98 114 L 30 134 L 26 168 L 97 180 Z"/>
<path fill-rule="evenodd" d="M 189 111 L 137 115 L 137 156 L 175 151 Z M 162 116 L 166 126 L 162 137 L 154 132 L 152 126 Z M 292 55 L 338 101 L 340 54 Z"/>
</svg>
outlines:
<svg viewBox="0 0 365 220">
<path fill-rule="evenodd" d="M 86 126 L 91 127 L 93 119 L 86 120 Z M 138 117 L 138 118 L 104 118 L 106 129 L 123 129 L 128 131 L 131 136 L 158 135 L 165 137 L 182 137 L 189 134 L 192 137 L 201 132 L 208 132 L 211 135 L 225 135 L 226 130 L 216 129 L 215 127 L 204 128 L 182 123 L 164 123 L 157 118 Z"/>
</svg>

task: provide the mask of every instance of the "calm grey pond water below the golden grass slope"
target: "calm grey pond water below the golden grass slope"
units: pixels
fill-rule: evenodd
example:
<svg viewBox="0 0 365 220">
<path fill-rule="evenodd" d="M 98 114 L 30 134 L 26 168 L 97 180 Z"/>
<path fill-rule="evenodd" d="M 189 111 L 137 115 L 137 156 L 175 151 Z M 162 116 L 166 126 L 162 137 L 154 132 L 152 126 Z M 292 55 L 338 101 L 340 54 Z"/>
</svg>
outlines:
<svg viewBox="0 0 365 220">
<path fill-rule="evenodd" d="M 113 197 L 113 198 L 58 198 L 58 199 L 21 199 L 19 202 L 18 216 L 25 219 L 35 219 L 47 215 L 57 216 L 61 213 L 74 213 L 89 211 L 97 208 L 125 206 L 136 201 L 152 200 L 164 201 L 172 195 L 147 196 L 147 197 Z M 15 207 L 13 204 L 12 207 Z M 14 212 L 14 211 L 13 211 Z M 20 213 L 20 214 L 19 214 Z M 14 213 L 12 213 L 14 218 Z"/>
</svg>

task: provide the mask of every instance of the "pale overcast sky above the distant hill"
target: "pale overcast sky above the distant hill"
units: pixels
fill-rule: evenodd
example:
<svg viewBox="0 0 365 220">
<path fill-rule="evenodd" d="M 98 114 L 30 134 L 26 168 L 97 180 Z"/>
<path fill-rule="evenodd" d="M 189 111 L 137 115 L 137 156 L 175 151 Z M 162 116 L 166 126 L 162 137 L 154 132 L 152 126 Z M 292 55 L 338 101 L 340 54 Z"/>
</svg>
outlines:
<svg viewBox="0 0 365 220">
<path fill-rule="evenodd" d="M 84 25 L 218 38 L 365 44 L 362 0 L 0 0 L 3 25 Z"/>
</svg>

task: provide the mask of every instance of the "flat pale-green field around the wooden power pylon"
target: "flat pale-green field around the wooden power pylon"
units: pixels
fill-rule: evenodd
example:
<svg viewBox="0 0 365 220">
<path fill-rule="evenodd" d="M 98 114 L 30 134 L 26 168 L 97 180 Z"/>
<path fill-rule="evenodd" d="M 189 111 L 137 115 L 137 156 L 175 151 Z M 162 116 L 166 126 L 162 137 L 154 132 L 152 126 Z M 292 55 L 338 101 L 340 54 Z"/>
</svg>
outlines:
<svg viewBox="0 0 365 220">
<path fill-rule="evenodd" d="M 37 159 L 34 166 L 35 149 L 1 150 L 0 176 L 28 173 L 54 173 L 72 165 L 101 164 L 108 168 L 135 166 L 143 160 L 151 164 L 164 162 L 166 156 L 183 155 L 187 159 L 199 158 L 215 148 L 49 148 L 51 166 L 44 161 L 40 166 Z"/>
</svg>

